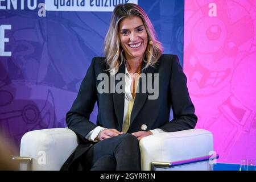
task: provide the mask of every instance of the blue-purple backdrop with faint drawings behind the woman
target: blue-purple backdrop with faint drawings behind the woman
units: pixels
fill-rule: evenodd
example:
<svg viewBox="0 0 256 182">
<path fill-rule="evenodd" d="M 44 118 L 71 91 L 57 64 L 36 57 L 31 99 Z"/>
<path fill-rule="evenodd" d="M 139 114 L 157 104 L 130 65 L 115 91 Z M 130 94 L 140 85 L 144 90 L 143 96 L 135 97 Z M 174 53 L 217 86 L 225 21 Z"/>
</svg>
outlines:
<svg viewBox="0 0 256 182">
<path fill-rule="evenodd" d="M 47 11 L 38 15 L 18 2 L 16 9 L 2 1 L 0 26 L 5 31 L 5 51 L 0 56 L 0 127 L 17 144 L 24 133 L 65 127 L 82 78 L 94 56 L 103 55 L 111 12 Z M 27 2 L 27 1 L 25 1 Z M 36 3 L 44 1 L 35 1 Z M 154 24 L 164 53 L 175 53 L 183 62 L 184 1 L 139 0 Z M 0 40 L 1 41 L 1 40 Z M 90 119 L 96 122 L 97 107 Z"/>
</svg>

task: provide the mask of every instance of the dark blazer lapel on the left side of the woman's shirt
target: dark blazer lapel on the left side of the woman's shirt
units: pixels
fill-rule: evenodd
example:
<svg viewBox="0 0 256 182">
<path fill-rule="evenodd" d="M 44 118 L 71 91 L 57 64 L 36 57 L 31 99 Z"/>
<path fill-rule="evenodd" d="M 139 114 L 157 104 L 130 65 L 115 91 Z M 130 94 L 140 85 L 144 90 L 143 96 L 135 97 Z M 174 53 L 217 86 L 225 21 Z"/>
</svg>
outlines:
<svg viewBox="0 0 256 182">
<path fill-rule="evenodd" d="M 115 76 L 118 73 L 125 74 L 125 63 L 122 63 L 119 66 L 119 70 L 115 74 Z M 118 82 L 119 82 L 119 80 L 115 80 L 115 85 L 114 86 L 116 86 Z M 123 86 L 125 86 L 125 85 L 123 85 Z M 123 125 L 123 107 L 125 106 L 125 93 L 123 93 L 123 92 L 122 93 L 114 92 L 113 93 L 113 102 L 114 102 L 115 114 L 117 115 L 117 120 L 118 120 L 118 124 L 119 124 L 119 131 L 121 131 L 122 130 L 122 125 Z"/>
</svg>

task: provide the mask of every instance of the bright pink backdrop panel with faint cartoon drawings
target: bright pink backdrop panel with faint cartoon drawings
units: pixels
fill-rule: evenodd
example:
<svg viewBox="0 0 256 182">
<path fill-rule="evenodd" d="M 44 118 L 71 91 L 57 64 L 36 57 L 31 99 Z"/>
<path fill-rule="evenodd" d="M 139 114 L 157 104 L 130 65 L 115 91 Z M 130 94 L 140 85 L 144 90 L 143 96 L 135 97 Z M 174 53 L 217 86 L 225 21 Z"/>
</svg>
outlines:
<svg viewBox="0 0 256 182">
<path fill-rule="evenodd" d="M 185 0 L 184 18 L 196 127 L 213 133 L 218 162 L 256 159 L 256 1 Z"/>
</svg>

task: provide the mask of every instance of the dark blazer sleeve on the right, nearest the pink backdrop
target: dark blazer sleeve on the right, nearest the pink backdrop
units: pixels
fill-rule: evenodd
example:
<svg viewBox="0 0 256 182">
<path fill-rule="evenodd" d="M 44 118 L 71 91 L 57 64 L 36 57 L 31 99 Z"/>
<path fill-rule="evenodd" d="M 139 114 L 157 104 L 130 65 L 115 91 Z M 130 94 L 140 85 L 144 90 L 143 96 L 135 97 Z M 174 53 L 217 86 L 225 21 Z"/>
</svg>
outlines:
<svg viewBox="0 0 256 182">
<path fill-rule="evenodd" d="M 187 77 L 176 55 L 172 57 L 170 94 L 174 119 L 164 123 L 160 129 L 168 132 L 194 129 L 197 122 L 195 107 L 189 97 Z"/>
</svg>

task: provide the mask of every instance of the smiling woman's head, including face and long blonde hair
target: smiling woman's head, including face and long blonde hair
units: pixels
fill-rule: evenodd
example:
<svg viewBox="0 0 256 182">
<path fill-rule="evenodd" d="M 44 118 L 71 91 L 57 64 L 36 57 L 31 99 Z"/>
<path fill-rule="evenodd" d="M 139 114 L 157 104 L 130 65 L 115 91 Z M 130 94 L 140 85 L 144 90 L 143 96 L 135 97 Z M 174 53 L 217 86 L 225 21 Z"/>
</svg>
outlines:
<svg viewBox="0 0 256 182">
<path fill-rule="evenodd" d="M 163 52 L 162 44 L 156 39 L 154 27 L 147 14 L 138 5 L 130 5 L 134 4 L 127 3 L 114 9 L 110 27 L 106 34 L 106 63 L 109 65 L 109 70 L 112 74 L 117 73 L 119 65 L 129 59 L 129 57 L 125 56 L 133 56 L 130 55 L 131 52 L 128 50 L 132 47 L 141 46 L 139 43 L 142 43 L 141 51 L 146 48 L 141 55 L 141 57 L 146 58 L 144 61 L 147 62 L 144 68 L 154 65 Z M 138 38 L 143 39 L 143 42 L 136 42 L 137 40 L 135 39 Z M 129 44 L 131 45 L 129 46 Z"/>
</svg>

